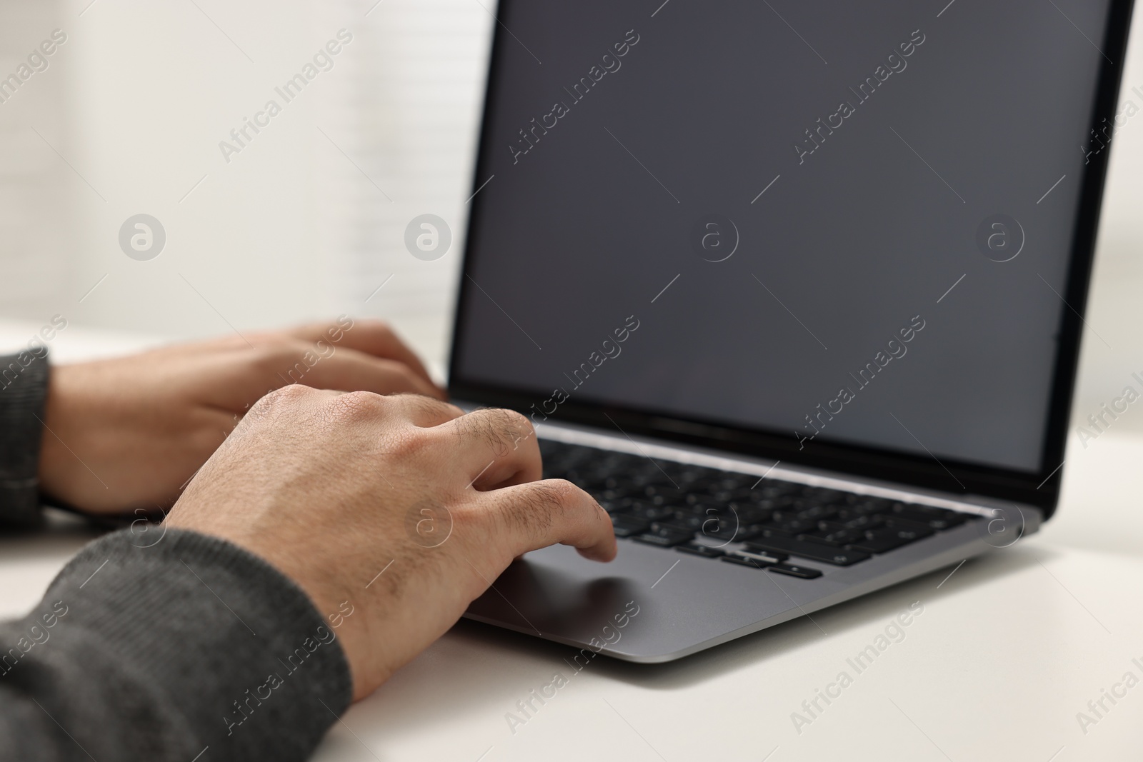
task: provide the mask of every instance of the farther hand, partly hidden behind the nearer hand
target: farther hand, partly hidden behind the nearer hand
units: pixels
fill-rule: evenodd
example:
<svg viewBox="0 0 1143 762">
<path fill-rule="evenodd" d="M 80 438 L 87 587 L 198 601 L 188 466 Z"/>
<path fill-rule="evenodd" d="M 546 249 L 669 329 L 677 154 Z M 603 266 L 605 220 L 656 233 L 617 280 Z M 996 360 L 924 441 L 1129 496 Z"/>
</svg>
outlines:
<svg viewBox="0 0 1143 762">
<path fill-rule="evenodd" d="M 377 321 L 342 319 L 247 338 L 53 368 L 43 491 L 89 513 L 169 507 L 250 406 L 288 384 L 443 396 Z"/>
</svg>

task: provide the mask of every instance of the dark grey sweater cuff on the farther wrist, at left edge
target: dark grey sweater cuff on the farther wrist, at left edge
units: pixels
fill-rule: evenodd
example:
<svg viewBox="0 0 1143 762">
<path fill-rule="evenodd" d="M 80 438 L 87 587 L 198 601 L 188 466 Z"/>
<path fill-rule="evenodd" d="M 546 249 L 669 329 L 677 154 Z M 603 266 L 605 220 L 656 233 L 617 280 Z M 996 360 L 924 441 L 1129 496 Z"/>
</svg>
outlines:
<svg viewBox="0 0 1143 762">
<path fill-rule="evenodd" d="M 0 356 L 0 523 L 40 521 L 39 465 L 48 352 Z"/>
</svg>

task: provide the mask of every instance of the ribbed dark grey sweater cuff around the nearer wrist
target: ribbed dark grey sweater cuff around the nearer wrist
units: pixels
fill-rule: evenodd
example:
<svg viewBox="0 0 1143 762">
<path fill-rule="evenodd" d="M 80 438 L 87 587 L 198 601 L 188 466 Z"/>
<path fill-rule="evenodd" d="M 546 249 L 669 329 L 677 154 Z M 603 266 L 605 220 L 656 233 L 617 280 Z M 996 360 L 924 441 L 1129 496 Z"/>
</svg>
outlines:
<svg viewBox="0 0 1143 762">
<path fill-rule="evenodd" d="M 69 610 L 61 640 L 86 641 L 121 671 L 114 682 L 133 696 L 119 712 L 168 707 L 159 724 L 191 756 L 209 746 L 211 760 L 307 759 L 352 698 L 337 642 L 352 602 L 322 616 L 291 579 L 216 537 L 165 527 L 107 535 L 43 601 Z M 65 685 L 56 700 L 71 700 Z M 98 746 L 101 730 L 89 730 Z"/>
</svg>

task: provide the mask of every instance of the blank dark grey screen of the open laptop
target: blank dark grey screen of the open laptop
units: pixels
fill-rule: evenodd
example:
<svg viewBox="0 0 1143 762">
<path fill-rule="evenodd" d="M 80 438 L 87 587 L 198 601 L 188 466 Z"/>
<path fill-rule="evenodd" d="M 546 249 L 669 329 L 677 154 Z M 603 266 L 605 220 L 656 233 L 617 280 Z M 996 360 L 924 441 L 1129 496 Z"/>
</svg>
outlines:
<svg viewBox="0 0 1143 762">
<path fill-rule="evenodd" d="M 1055 467 L 1110 10 L 502 2 L 450 383 Z"/>
</svg>

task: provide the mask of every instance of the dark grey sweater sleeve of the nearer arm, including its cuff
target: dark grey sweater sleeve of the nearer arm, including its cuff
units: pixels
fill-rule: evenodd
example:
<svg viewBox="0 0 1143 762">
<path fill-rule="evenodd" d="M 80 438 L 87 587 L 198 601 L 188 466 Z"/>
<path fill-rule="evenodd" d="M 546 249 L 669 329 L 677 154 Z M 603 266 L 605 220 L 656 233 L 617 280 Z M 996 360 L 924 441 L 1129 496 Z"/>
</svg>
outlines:
<svg viewBox="0 0 1143 762">
<path fill-rule="evenodd" d="M 304 760 L 349 706 L 352 602 L 323 617 L 258 556 L 154 531 L 91 543 L 0 624 L 0 760 Z"/>
</svg>

